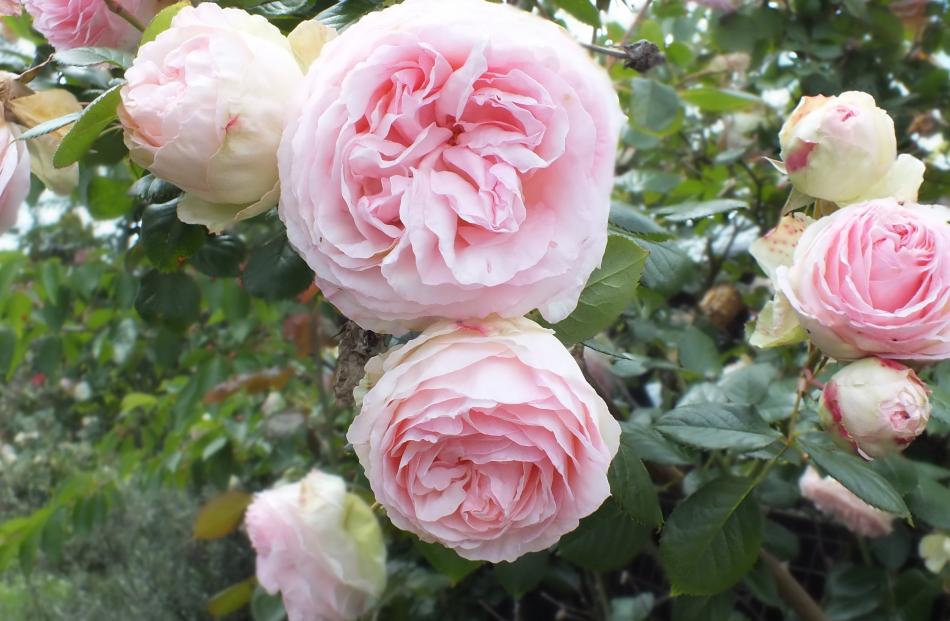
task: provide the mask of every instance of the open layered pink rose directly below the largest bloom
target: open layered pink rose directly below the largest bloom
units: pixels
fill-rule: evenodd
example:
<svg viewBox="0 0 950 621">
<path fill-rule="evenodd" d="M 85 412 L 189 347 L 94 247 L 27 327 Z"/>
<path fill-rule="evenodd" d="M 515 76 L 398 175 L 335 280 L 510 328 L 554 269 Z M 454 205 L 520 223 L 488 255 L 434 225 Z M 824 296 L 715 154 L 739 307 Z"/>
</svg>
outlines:
<svg viewBox="0 0 950 621">
<path fill-rule="evenodd" d="M 620 427 L 550 330 L 437 323 L 366 372 L 347 439 L 397 527 L 464 558 L 513 561 L 610 494 Z"/>
</svg>

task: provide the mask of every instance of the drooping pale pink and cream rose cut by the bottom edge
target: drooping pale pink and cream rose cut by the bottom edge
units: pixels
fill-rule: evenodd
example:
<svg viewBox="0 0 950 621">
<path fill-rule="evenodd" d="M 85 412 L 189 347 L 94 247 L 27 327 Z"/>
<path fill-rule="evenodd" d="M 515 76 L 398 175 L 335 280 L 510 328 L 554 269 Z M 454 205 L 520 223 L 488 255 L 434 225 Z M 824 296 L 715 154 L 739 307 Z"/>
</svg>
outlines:
<svg viewBox="0 0 950 621">
<path fill-rule="evenodd" d="M 256 494 L 245 523 L 257 580 L 281 592 L 289 621 L 356 619 L 386 586 L 379 522 L 338 476 L 314 470 Z"/>
</svg>

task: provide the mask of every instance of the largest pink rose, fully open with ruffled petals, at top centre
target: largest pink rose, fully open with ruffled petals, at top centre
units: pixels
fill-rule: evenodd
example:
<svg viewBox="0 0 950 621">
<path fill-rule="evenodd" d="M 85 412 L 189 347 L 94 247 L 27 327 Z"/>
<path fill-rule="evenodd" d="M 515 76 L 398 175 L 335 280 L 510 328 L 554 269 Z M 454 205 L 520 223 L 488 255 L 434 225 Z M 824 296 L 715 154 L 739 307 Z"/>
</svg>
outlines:
<svg viewBox="0 0 950 621">
<path fill-rule="evenodd" d="M 567 32 L 483 0 L 407 0 L 327 44 L 304 91 L 280 215 L 345 315 L 400 333 L 574 309 L 623 117 Z"/>
</svg>

